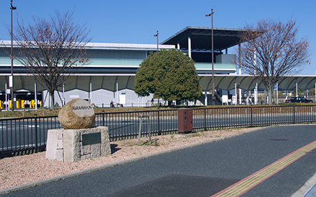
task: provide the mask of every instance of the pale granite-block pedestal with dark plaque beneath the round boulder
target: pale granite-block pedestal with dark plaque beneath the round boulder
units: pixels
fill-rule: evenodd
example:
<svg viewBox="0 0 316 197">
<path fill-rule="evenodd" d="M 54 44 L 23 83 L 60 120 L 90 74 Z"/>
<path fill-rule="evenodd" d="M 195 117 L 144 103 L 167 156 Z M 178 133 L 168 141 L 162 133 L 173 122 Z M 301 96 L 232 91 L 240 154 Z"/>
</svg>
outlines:
<svg viewBox="0 0 316 197">
<path fill-rule="evenodd" d="M 80 161 L 111 154 L 108 127 L 90 129 L 50 129 L 46 159 Z"/>
</svg>

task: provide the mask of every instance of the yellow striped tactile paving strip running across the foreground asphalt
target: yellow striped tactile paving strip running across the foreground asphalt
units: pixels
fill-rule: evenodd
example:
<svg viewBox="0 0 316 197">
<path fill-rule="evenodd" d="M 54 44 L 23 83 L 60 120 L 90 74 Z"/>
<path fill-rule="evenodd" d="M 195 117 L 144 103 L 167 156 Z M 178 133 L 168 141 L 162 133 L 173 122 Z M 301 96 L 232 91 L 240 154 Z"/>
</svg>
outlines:
<svg viewBox="0 0 316 197">
<path fill-rule="evenodd" d="M 262 168 L 260 171 L 253 173 L 252 175 L 244 178 L 243 180 L 240 180 L 236 184 L 233 184 L 227 189 L 220 191 L 219 193 L 214 194 L 211 197 L 241 196 L 242 194 L 246 193 L 246 191 L 255 187 L 257 184 L 260 184 L 260 182 L 263 182 L 275 173 L 278 173 L 278 171 L 281 171 L 286 166 L 292 164 L 294 161 L 297 161 L 297 159 L 306 155 L 306 152 L 310 152 L 315 148 L 316 141 L 313 141 L 312 143 L 309 143 L 308 145 L 303 146 L 302 148 L 290 153 L 289 155 L 286 155 L 285 157 L 278 159 L 278 161 L 275 161 L 269 166 Z"/>
</svg>

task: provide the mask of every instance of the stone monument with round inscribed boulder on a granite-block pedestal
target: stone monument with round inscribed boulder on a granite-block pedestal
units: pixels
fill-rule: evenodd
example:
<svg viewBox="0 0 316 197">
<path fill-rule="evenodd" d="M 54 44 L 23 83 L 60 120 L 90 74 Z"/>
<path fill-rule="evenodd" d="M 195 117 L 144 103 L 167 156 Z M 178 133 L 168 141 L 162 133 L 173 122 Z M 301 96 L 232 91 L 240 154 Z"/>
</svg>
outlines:
<svg viewBox="0 0 316 197">
<path fill-rule="evenodd" d="M 74 99 L 58 114 L 63 129 L 47 132 L 46 159 L 80 161 L 111 154 L 108 127 L 94 127 L 95 111 L 85 100 Z"/>
</svg>

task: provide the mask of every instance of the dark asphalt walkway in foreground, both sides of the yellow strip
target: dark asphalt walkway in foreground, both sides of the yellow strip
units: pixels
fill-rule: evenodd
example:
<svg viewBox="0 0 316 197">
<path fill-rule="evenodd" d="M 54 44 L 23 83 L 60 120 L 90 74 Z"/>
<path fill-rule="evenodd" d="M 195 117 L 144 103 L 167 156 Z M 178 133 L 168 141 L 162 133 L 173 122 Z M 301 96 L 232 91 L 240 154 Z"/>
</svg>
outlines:
<svg viewBox="0 0 316 197">
<path fill-rule="evenodd" d="M 212 196 L 314 141 L 316 125 L 269 127 L 4 196 Z M 291 196 L 315 172 L 311 150 L 242 196 Z"/>
</svg>

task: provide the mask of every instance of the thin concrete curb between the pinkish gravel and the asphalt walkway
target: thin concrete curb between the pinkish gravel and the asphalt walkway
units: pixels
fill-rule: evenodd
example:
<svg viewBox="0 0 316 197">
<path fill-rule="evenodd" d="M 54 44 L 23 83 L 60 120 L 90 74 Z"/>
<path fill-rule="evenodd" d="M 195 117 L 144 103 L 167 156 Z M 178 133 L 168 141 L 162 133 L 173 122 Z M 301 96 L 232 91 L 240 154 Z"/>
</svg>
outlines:
<svg viewBox="0 0 316 197">
<path fill-rule="evenodd" d="M 269 127 L 275 127 L 275 126 L 276 125 L 269 126 Z M 194 146 L 197 146 L 197 145 L 203 145 L 203 144 L 206 144 L 206 143 L 212 143 L 212 142 L 216 142 L 216 141 L 222 141 L 224 139 L 230 139 L 230 138 L 235 137 L 235 136 L 239 136 L 239 135 L 242 135 L 242 134 L 248 134 L 248 133 L 251 133 L 251 132 L 256 132 L 258 130 L 267 129 L 269 127 L 260 127 L 258 129 L 253 129 L 253 130 L 248 131 L 248 132 L 243 132 L 243 133 L 239 133 L 239 134 L 233 134 L 233 135 L 230 135 L 230 136 L 221 137 L 219 139 L 213 139 L 213 140 L 210 140 L 210 141 L 203 141 L 203 142 L 200 142 L 200 143 L 194 143 L 194 144 L 191 144 L 191 145 L 182 146 L 180 148 L 174 148 L 174 149 L 171 149 L 171 150 L 164 150 L 162 152 L 156 152 L 156 153 L 153 153 L 153 154 L 150 154 L 150 155 L 145 155 L 145 156 L 142 156 L 142 157 L 136 157 L 136 158 L 133 158 L 133 159 L 127 159 L 127 160 L 119 161 L 119 162 L 116 162 L 116 163 L 113 163 L 113 164 L 106 164 L 104 166 L 97 166 L 95 168 L 89 168 L 89 169 L 86 169 L 86 170 L 83 170 L 83 171 L 78 171 L 78 172 L 74 172 L 74 173 L 60 175 L 60 176 L 55 177 L 55 178 L 48 178 L 48 179 L 45 179 L 45 180 L 39 180 L 39 181 L 36 181 L 36 182 L 30 182 L 30 183 L 27 183 L 27 184 L 18 185 L 16 187 L 10 187 L 8 189 L 2 189 L 2 190 L 0 190 L 0 195 L 1 194 L 7 194 L 7 193 L 10 193 L 10 192 L 13 192 L 13 191 L 19 191 L 21 189 L 26 189 L 26 188 L 29 188 L 29 187 L 35 187 L 35 186 L 38 186 L 40 184 L 45 184 L 45 183 L 54 182 L 54 181 L 57 181 L 57 180 L 63 180 L 63 179 L 66 179 L 66 178 L 71 178 L 71 177 L 74 177 L 74 176 L 77 176 L 77 175 L 84 175 L 86 173 L 91 173 L 91 172 L 94 172 L 94 171 L 100 171 L 100 170 L 103 170 L 105 168 L 111 168 L 111 167 L 127 164 L 127 163 L 130 163 L 130 162 L 134 162 L 134 161 L 139 161 L 141 159 L 147 159 L 149 157 L 155 157 L 157 155 L 164 155 L 166 153 L 175 152 L 177 150 L 184 150 L 186 148 L 191 148 L 191 147 L 194 147 Z"/>
</svg>

